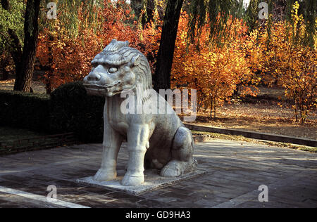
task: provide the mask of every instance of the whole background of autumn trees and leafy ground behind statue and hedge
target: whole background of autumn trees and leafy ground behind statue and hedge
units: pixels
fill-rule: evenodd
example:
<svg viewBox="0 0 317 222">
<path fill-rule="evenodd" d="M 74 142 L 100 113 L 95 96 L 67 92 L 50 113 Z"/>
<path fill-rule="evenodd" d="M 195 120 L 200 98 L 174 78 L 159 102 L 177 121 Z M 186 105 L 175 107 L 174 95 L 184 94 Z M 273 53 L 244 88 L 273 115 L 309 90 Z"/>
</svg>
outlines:
<svg viewBox="0 0 317 222">
<path fill-rule="evenodd" d="M 316 139 L 316 1 L 264 1 L 266 19 L 256 0 L 55 2 L 48 19 L 49 1 L 1 0 L 0 89 L 82 81 L 118 39 L 147 56 L 154 89 L 197 89 L 197 123 Z"/>
</svg>

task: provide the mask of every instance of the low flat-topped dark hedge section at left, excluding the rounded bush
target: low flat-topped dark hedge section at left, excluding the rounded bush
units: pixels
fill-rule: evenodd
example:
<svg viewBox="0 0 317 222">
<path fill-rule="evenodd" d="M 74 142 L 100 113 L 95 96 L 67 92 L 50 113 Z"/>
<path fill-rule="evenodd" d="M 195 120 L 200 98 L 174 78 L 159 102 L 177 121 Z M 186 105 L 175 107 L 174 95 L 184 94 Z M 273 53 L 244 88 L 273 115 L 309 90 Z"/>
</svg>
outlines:
<svg viewBox="0 0 317 222">
<path fill-rule="evenodd" d="M 49 96 L 0 91 L 0 125 L 49 130 Z"/>
</svg>

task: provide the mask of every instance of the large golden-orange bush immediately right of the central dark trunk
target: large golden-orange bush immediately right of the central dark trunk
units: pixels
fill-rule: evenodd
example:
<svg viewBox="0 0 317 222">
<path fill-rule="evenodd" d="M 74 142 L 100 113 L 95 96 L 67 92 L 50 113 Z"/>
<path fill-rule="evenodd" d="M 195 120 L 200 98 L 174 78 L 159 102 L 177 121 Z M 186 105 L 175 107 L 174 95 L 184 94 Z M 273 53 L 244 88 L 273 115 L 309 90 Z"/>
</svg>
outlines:
<svg viewBox="0 0 317 222">
<path fill-rule="evenodd" d="M 223 105 L 237 89 L 245 86 L 242 94 L 254 94 L 247 84 L 251 77 L 249 63 L 244 52 L 247 27 L 241 20 L 229 20 L 229 39 L 224 46 L 217 46 L 209 41 L 209 27 L 205 25 L 197 44 L 187 48 L 188 15 L 182 13 L 176 40 L 173 60 L 173 87 L 197 89 L 201 103 L 208 101 L 211 116 L 216 117 L 216 107 Z"/>
</svg>

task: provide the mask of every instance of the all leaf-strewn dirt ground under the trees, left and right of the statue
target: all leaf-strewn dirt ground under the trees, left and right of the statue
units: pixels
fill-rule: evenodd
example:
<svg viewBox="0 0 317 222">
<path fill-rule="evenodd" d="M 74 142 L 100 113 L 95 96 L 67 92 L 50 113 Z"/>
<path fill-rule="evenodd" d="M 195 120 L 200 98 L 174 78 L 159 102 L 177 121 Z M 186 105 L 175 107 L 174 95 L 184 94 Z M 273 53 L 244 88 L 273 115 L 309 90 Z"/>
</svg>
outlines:
<svg viewBox="0 0 317 222">
<path fill-rule="evenodd" d="M 12 90 L 14 79 L 0 81 L 0 89 Z M 45 93 L 45 86 L 40 81 L 32 81 L 35 93 Z M 267 99 L 269 98 L 269 99 Z M 285 99 L 281 89 L 260 87 L 259 98 L 248 103 L 232 103 L 219 107 L 216 119 L 209 119 L 209 110 L 199 112 L 195 124 L 218 126 L 233 129 L 247 129 L 285 136 L 298 136 L 317 139 L 317 112 L 311 112 L 306 124 L 295 122 L 294 111 L 278 105 Z"/>
</svg>

